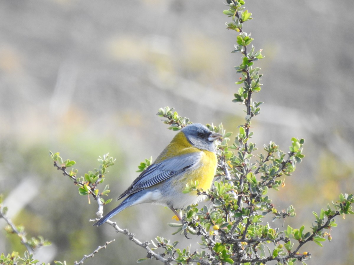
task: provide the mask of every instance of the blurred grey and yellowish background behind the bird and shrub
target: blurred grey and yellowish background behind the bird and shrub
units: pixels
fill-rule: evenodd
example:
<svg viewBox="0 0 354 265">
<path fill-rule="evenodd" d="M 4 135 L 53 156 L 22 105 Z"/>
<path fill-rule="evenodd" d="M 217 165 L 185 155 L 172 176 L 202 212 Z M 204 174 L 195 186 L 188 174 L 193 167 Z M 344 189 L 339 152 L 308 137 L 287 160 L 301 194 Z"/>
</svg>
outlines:
<svg viewBox="0 0 354 265">
<path fill-rule="evenodd" d="M 309 231 L 312 211 L 353 193 L 354 6 L 269 0 L 246 7 L 254 19 L 244 31 L 265 55 L 256 62 L 264 86 L 253 99 L 265 103 L 252 120 L 252 142 L 259 151 L 269 141 L 287 151 L 291 137 L 306 139 L 306 158 L 270 196 L 278 210 L 296 209 L 285 227 L 304 224 Z M 137 165 L 155 159 L 175 135 L 155 116 L 160 107 L 235 132 L 245 116 L 231 102 L 240 55 L 230 53 L 236 32 L 225 29 L 224 9 L 212 0 L 0 1 L 0 193 L 28 237 L 52 242 L 36 258 L 72 264 L 113 238 L 85 264 L 145 257 L 110 226 L 92 227 L 96 202 L 79 195 L 48 151 L 75 160 L 79 176 L 109 152 L 117 160 L 105 183 L 109 198 L 117 198 L 138 175 Z M 162 206 L 139 205 L 113 219 L 141 241 L 160 235 L 189 245 L 171 235 L 171 217 Z M 332 242 L 301 249 L 313 255 L 308 264 L 353 264 L 354 219 L 337 222 Z M 0 235 L 0 253 L 24 251 L 15 236 L 3 229 Z"/>
</svg>

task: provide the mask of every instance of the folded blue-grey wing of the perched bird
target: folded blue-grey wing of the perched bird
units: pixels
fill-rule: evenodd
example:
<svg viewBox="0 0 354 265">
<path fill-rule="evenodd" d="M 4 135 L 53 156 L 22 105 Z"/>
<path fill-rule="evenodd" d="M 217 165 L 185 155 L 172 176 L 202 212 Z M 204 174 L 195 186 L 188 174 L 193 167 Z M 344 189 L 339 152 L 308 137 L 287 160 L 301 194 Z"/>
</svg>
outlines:
<svg viewBox="0 0 354 265">
<path fill-rule="evenodd" d="M 118 200 L 184 172 L 198 162 L 199 159 L 199 152 L 193 152 L 165 159 L 160 163 L 150 165 L 147 169 L 141 172 L 129 188 L 119 196 Z"/>
</svg>

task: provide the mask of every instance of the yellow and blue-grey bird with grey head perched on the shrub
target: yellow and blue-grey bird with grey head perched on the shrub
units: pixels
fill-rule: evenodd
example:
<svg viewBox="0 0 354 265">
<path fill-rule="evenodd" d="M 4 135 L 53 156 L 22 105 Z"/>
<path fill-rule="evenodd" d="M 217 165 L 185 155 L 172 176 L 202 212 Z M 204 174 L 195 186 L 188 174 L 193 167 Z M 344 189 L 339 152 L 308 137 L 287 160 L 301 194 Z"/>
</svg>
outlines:
<svg viewBox="0 0 354 265">
<path fill-rule="evenodd" d="M 210 131 L 200 123 L 183 127 L 154 163 L 132 182 L 119 198 L 126 197 L 118 207 L 99 219 L 100 226 L 127 207 L 153 203 L 167 205 L 181 220 L 176 209 L 185 209 L 205 199 L 196 191 L 183 193 L 186 184 L 198 181 L 198 187 L 209 189 L 217 168 L 214 141 L 221 134 Z"/>
</svg>

